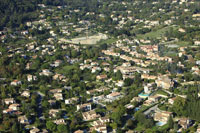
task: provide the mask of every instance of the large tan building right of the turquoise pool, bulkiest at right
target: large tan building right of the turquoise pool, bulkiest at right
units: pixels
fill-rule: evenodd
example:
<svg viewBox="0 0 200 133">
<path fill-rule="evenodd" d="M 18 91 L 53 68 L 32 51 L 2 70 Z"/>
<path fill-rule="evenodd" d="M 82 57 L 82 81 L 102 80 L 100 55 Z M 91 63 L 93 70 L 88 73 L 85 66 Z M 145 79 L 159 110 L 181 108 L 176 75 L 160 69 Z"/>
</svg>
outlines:
<svg viewBox="0 0 200 133">
<path fill-rule="evenodd" d="M 174 86 L 174 82 L 168 76 L 159 76 L 155 81 L 157 87 L 161 87 L 163 89 L 169 89 Z"/>
</svg>

